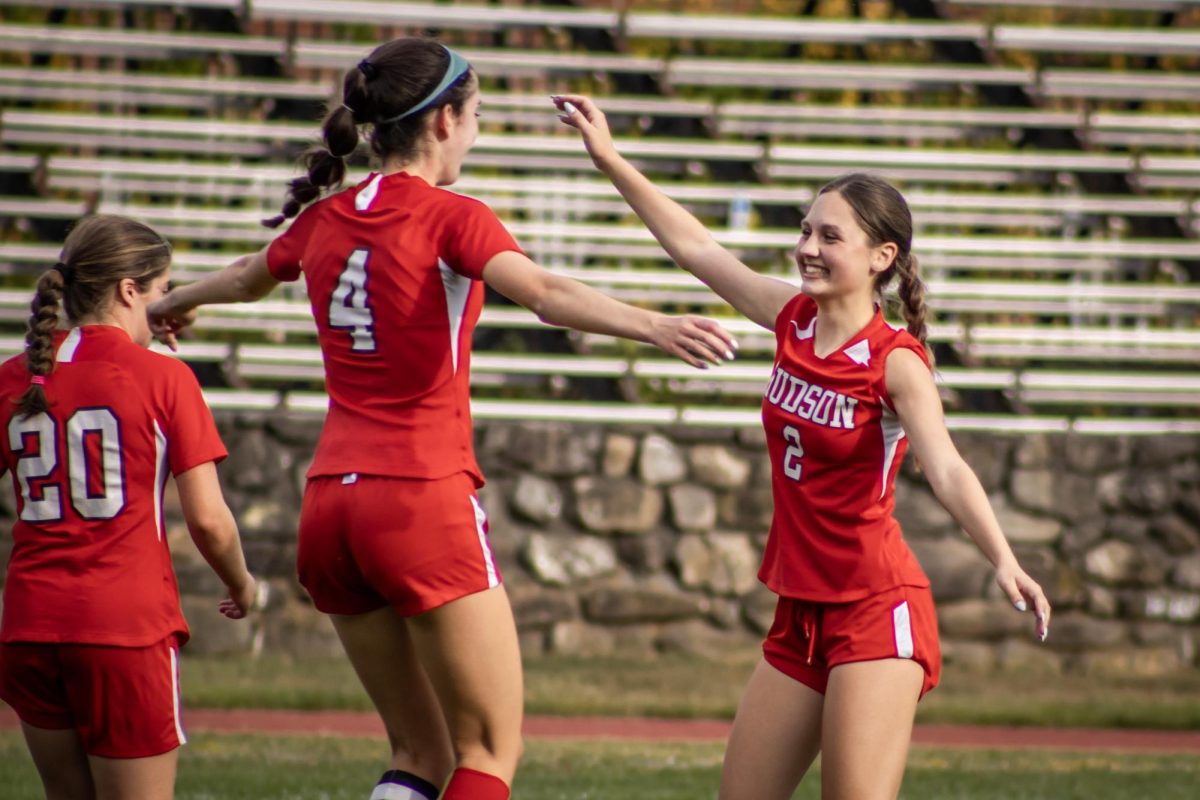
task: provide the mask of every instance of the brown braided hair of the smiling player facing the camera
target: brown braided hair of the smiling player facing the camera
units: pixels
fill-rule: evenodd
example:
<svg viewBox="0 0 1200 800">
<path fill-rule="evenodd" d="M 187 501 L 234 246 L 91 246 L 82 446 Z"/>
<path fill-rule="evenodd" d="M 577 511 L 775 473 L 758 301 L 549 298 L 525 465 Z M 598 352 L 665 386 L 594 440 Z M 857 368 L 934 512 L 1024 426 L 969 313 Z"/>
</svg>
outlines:
<svg viewBox="0 0 1200 800">
<path fill-rule="evenodd" d="M 912 212 L 904 194 L 878 175 L 850 173 L 826 184 L 817 193 L 836 192 L 854 211 L 871 245 L 892 242 L 896 257 L 892 265 L 875 277 L 875 291 L 882 305 L 883 290 L 899 276 L 900 313 L 904 314 L 908 332 L 922 343 L 932 361 L 929 348 L 929 329 L 925 325 L 925 284 L 920 279 L 917 257 L 912 254 Z"/>
</svg>

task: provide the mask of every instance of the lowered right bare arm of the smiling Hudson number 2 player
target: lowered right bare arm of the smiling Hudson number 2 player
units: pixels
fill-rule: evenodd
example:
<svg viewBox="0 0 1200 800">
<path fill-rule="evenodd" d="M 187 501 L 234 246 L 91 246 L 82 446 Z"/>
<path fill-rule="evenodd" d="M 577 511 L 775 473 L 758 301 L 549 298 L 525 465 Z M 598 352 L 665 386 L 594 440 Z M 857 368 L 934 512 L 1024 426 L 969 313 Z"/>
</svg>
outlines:
<svg viewBox="0 0 1200 800">
<path fill-rule="evenodd" d="M 887 384 L 913 455 L 934 494 L 996 567 L 996 584 L 1019 610 L 1033 607 L 1038 636 L 1050 632 L 1050 602 L 1042 587 L 1016 563 L 979 479 L 959 455 L 942 415 L 942 401 L 929 368 L 916 353 L 893 350 Z"/>
</svg>

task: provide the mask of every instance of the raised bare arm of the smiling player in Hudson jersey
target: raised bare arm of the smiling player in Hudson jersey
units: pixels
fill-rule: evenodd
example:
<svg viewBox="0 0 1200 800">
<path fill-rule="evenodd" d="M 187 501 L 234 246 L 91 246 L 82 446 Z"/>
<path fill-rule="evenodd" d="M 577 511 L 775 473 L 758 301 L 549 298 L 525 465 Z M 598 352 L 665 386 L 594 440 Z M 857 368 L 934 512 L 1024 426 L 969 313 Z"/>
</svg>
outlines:
<svg viewBox="0 0 1200 800">
<path fill-rule="evenodd" d="M 779 312 L 799 289 L 785 281 L 760 275 L 743 264 L 713 239 L 700 219 L 625 161 L 617 152 L 608 122 L 595 103 L 580 95 L 563 95 L 556 97 L 554 103 L 563 112 L 559 119 L 580 131 L 592 161 L 608 176 L 671 258 L 708 284 L 738 313 L 767 330 L 774 330 Z"/>
</svg>

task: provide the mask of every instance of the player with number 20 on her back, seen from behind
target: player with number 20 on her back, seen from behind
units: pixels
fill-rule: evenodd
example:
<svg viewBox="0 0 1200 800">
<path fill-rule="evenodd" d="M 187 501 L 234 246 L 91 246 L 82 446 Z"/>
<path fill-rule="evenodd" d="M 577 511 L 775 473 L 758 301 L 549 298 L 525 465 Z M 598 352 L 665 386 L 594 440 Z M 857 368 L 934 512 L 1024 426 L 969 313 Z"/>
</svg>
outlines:
<svg viewBox="0 0 1200 800">
<path fill-rule="evenodd" d="M 48 798 L 169 800 L 188 632 L 163 536 L 168 473 L 229 590 L 221 613 L 245 616 L 256 583 L 199 384 L 146 349 L 146 306 L 167 291 L 170 246 L 132 219 L 95 216 L 61 259 L 37 282 L 25 354 L 0 366 L 0 464 L 17 495 L 0 697 Z M 70 331 L 58 330 L 60 308 Z"/>
</svg>

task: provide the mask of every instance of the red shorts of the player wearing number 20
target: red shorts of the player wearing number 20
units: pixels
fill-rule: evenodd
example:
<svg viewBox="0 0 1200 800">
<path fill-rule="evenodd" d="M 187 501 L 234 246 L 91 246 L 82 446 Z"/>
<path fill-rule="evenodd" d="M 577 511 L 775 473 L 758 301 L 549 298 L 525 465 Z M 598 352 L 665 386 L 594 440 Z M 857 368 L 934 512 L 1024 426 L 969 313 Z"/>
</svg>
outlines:
<svg viewBox="0 0 1200 800">
<path fill-rule="evenodd" d="M 179 646 L 0 644 L 0 698 L 23 722 L 76 730 L 84 752 L 148 758 L 187 741 L 179 716 Z"/>
</svg>

